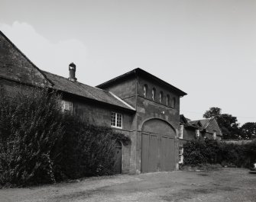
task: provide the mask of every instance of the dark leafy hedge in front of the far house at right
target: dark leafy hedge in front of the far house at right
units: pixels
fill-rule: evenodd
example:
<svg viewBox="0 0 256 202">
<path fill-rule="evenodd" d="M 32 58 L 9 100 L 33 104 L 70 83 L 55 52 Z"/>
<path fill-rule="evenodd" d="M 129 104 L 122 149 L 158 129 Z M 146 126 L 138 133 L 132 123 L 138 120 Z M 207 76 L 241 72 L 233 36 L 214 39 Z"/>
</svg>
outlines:
<svg viewBox="0 0 256 202">
<path fill-rule="evenodd" d="M 184 165 L 222 164 L 248 168 L 256 161 L 256 140 L 245 145 L 195 139 L 183 145 Z"/>
</svg>

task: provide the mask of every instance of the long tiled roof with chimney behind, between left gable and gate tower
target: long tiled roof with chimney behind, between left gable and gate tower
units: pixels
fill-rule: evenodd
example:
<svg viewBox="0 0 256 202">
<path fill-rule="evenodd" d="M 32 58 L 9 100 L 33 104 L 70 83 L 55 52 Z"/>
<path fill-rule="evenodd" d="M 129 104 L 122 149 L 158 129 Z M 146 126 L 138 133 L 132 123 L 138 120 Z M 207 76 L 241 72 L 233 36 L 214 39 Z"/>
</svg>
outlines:
<svg viewBox="0 0 256 202">
<path fill-rule="evenodd" d="M 135 111 L 134 107 L 131 107 L 129 104 L 119 99 L 110 91 L 104 91 L 102 89 L 85 85 L 80 82 L 71 82 L 69 79 L 66 79 L 60 75 L 54 75 L 45 71 L 43 72 L 47 79 L 53 82 L 53 88 L 59 91 L 68 92 L 73 95 L 79 95 L 83 98 L 89 98 L 106 104 L 112 104 L 128 109 L 129 111 Z"/>
</svg>

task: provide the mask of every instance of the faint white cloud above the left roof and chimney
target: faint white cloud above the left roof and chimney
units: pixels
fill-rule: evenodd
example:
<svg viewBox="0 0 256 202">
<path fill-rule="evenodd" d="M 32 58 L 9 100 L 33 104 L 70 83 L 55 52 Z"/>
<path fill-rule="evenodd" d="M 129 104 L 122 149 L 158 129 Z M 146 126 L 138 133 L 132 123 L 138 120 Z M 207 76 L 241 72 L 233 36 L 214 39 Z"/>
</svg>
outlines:
<svg viewBox="0 0 256 202">
<path fill-rule="evenodd" d="M 83 72 L 87 55 L 83 42 L 69 39 L 52 43 L 25 22 L 0 24 L 0 30 L 40 69 L 67 77 L 68 65 L 73 62 Z"/>
</svg>

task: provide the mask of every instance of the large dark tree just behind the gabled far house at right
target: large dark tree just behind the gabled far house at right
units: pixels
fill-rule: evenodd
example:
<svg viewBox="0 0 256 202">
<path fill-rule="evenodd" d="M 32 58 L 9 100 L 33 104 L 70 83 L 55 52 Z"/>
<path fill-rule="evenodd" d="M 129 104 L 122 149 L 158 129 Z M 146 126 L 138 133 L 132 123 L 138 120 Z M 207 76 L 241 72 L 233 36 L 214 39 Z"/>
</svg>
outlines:
<svg viewBox="0 0 256 202">
<path fill-rule="evenodd" d="M 222 130 L 223 139 L 239 138 L 239 123 L 237 117 L 233 117 L 231 114 L 222 114 L 222 110 L 219 107 L 210 107 L 209 111 L 203 114 L 203 117 L 215 117 L 215 120 L 217 120 Z"/>
</svg>

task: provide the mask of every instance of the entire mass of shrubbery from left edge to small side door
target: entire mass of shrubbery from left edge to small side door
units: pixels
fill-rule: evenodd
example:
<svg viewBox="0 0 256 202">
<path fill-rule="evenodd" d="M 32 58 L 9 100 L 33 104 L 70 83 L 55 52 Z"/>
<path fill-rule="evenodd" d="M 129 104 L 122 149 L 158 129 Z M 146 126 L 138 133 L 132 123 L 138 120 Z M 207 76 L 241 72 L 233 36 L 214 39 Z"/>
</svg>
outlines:
<svg viewBox="0 0 256 202">
<path fill-rule="evenodd" d="M 115 142 L 131 139 L 63 114 L 60 96 L 41 88 L 0 91 L 0 185 L 26 186 L 112 175 Z"/>
</svg>

